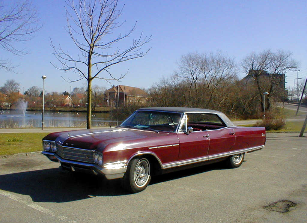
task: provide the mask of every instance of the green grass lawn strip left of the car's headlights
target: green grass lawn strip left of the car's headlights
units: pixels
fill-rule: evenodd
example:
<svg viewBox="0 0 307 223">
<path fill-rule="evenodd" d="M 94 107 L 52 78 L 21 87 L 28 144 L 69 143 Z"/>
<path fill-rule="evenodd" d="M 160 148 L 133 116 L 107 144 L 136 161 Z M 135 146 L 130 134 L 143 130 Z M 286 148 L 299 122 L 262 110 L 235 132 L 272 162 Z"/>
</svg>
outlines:
<svg viewBox="0 0 307 223">
<path fill-rule="evenodd" d="M 42 151 L 42 138 L 48 133 L 1 133 L 0 156 Z"/>
</svg>

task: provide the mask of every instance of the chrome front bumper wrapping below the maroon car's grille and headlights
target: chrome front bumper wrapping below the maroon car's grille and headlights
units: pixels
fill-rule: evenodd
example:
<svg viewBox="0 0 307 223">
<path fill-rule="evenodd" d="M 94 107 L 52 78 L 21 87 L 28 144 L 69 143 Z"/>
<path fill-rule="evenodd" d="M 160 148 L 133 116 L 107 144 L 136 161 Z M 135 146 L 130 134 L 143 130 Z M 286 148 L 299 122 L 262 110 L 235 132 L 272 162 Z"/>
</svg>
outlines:
<svg viewBox="0 0 307 223">
<path fill-rule="evenodd" d="M 47 156 L 51 161 L 60 162 L 62 167 L 70 169 L 71 171 L 75 171 L 76 169 L 90 170 L 93 171 L 95 174 L 99 173 L 105 175 L 107 179 L 122 178 L 127 170 L 126 165 L 116 166 L 116 168 L 114 168 L 110 167 L 110 165 L 105 164 L 103 167 L 100 167 L 95 163 L 84 163 L 73 160 L 65 160 L 53 152 L 43 151 L 42 154 Z"/>
</svg>

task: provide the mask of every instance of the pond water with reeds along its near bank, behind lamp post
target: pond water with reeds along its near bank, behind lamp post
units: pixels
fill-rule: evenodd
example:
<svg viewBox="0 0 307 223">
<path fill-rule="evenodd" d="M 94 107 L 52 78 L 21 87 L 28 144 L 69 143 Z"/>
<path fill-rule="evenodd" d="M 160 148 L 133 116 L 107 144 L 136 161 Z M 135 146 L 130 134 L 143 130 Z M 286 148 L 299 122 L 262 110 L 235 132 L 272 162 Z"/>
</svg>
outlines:
<svg viewBox="0 0 307 223">
<path fill-rule="evenodd" d="M 110 125 L 109 113 L 92 113 L 92 126 Z M 25 116 L 18 111 L 1 111 L 0 128 L 39 128 L 42 113 L 27 111 Z M 120 124 L 120 123 L 119 123 Z M 112 125 L 117 123 L 112 122 Z M 85 112 L 44 112 L 44 127 L 86 127 Z"/>
</svg>

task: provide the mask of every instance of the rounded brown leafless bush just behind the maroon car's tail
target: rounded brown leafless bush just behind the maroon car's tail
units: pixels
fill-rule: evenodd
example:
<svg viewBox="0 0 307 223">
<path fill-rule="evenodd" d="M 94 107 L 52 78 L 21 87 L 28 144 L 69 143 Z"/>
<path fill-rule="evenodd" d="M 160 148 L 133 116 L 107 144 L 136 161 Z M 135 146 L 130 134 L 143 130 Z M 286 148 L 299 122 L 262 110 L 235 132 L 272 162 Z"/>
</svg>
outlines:
<svg viewBox="0 0 307 223">
<path fill-rule="evenodd" d="M 265 118 L 256 122 L 255 126 L 265 127 L 266 130 L 280 130 L 286 125 L 286 117 L 278 108 L 274 108 L 265 114 Z"/>
</svg>

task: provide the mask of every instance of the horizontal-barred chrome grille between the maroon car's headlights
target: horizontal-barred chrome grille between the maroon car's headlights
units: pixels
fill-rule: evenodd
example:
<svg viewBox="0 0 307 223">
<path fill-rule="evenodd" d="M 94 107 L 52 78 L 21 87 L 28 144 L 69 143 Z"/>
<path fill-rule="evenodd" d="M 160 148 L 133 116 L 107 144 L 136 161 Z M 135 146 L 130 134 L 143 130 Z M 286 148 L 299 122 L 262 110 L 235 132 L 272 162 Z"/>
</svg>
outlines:
<svg viewBox="0 0 307 223">
<path fill-rule="evenodd" d="M 63 147 L 56 144 L 56 154 L 66 160 L 94 163 L 93 150 Z"/>
</svg>

